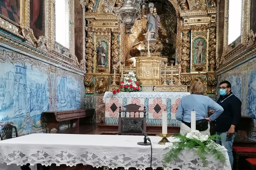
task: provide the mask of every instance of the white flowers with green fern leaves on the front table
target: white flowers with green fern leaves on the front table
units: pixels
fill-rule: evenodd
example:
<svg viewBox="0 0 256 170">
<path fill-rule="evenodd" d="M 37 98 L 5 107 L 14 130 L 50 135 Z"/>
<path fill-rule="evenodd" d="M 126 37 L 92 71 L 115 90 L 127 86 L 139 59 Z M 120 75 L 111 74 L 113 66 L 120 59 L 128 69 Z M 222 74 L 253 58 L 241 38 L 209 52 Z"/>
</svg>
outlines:
<svg viewBox="0 0 256 170">
<path fill-rule="evenodd" d="M 214 155 L 221 163 L 226 162 L 225 156 L 219 150 L 221 146 L 213 141 L 216 140 L 217 137 L 220 137 L 220 135 L 212 135 L 209 137 L 209 135 L 203 135 L 196 130 L 187 133 L 186 136 L 178 134 L 174 135 L 174 137 L 179 138 L 179 141 L 171 143 L 169 148 L 166 148 L 170 149 L 170 151 L 164 155 L 164 166 L 177 159 L 184 148 L 196 148 L 195 153 L 202 159 L 205 166 L 207 166 L 206 157 L 209 154 Z"/>
</svg>

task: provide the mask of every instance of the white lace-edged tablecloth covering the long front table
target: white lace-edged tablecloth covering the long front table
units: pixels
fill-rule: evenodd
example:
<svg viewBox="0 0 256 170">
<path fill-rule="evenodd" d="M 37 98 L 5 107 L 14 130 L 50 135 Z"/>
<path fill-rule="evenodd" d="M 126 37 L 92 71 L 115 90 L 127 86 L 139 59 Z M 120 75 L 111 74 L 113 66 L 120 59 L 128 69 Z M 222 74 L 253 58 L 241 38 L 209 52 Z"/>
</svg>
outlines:
<svg viewBox="0 0 256 170">
<path fill-rule="evenodd" d="M 152 167 L 162 167 L 166 146 L 158 145 L 160 137 L 150 137 L 153 146 Z M 177 139 L 170 137 L 169 141 Z M 51 165 L 76 164 L 107 166 L 110 168 L 150 167 L 150 146 L 139 146 L 143 136 L 133 135 L 87 135 L 36 133 L 0 141 L 0 163 L 25 165 L 30 163 Z M 164 150 L 165 149 L 165 150 Z M 230 170 L 227 151 L 220 149 L 227 159 L 221 164 L 209 155 L 209 167 L 204 167 L 193 151 L 183 150 L 180 159 L 167 165 L 178 169 L 227 169 Z"/>
</svg>

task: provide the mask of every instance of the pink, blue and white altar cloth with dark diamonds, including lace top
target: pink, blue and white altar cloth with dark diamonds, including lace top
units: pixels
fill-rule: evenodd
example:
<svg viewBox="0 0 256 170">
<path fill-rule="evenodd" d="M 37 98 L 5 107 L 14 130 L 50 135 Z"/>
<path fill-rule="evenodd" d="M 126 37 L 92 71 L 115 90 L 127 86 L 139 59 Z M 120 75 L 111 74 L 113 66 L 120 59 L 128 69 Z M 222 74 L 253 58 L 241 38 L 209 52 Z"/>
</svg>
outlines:
<svg viewBox="0 0 256 170">
<path fill-rule="evenodd" d="M 105 92 L 103 101 L 105 107 L 105 124 L 118 124 L 118 111 L 121 106 L 137 104 L 142 111 L 146 106 L 147 125 L 161 126 L 162 113 L 167 112 L 167 125 L 179 126 L 180 121 L 176 120 L 175 114 L 183 96 L 190 95 L 189 92 L 119 92 L 113 94 L 111 91 Z M 138 117 L 138 115 L 136 115 Z M 141 113 L 140 117 L 143 116 Z"/>
</svg>

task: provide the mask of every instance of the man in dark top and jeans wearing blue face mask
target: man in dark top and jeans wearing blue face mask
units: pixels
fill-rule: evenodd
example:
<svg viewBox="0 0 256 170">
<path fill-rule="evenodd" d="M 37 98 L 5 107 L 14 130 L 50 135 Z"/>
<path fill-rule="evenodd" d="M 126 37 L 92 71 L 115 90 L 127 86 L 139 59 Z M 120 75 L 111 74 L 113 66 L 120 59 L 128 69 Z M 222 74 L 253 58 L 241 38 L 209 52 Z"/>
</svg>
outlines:
<svg viewBox="0 0 256 170">
<path fill-rule="evenodd" d="M 235 138 L 235 128 L 241 119 L 241 101 L 232 94 L 231 84 L 229 81 L 220 82 L 220 98 L 217 103 L 223 107 L 223 113 L 215 120 L 216 134 L 221 138 L 217 138 L 217 143 L 224 146 L 228 150 L 229 161 L 233 168 L 233 153 L 232 145 Z M 214 113 L 213 110 L 209 111 L 210 114 Z"/>
</svg>

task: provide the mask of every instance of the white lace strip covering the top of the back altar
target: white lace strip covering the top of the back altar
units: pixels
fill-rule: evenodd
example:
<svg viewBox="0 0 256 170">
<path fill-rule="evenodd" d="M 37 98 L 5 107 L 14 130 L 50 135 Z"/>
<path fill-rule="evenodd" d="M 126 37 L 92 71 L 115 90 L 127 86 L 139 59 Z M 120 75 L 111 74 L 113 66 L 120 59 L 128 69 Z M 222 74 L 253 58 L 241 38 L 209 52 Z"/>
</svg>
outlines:
<svg viewBox="0 0 256 170">
<path fill-rule="evenodd" d="M 106 91 L 103 96 L 105 103 L 106 98 L 170 98 L 178 99 L 190 95 L 189 92 L 118 92 L 115 95 L 112 91 Z"/>
</svg>

